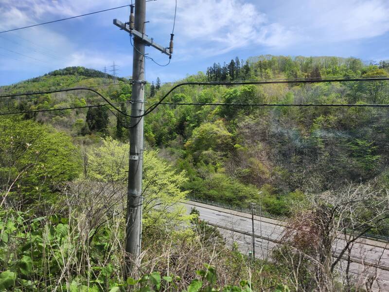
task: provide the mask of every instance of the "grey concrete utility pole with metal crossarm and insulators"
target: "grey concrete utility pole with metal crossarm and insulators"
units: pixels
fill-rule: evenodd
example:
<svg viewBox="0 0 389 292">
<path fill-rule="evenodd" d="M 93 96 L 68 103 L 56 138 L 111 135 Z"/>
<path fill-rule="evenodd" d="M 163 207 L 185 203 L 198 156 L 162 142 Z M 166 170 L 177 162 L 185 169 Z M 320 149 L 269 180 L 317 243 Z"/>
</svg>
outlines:
<svg viewBox="0 0 389 292">
<path fill-rule="evenodd" d="M 144 47 L 152 46 L 162 53 L 169 55 L 171 49 L 156 44 L 153 39 L 145 35 L 146 0 L 135 1 L 131 6 L 128 23 L 114 19 L 113 24 L 128 32 L 134 37 L 133 65 L 132 65 L 132 106 L 131 116 L 141 116 L 144 112 Z M 142 163 L 143 163 L 143 118 L 131 118 L 130 128 L 130 160 L 128 170 L 127 191 L 127 225 L 125 242 L 125 275 L 132 270 L 132 263 L 139 259 L 141 254 L 141 222 L 142 222 Z"/>
</svg>

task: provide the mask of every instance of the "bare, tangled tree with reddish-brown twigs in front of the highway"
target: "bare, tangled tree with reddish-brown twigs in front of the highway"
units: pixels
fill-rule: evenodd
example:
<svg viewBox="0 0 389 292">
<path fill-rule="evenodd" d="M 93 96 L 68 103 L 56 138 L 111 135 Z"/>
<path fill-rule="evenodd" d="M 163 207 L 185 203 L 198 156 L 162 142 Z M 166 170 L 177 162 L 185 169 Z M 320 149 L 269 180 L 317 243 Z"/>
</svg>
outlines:
<svg viewBox="0 0 389 292">
<path fill-rule="evenodd" d="M 343 191 L 327 191 L 307 196 L 309 208 L 293 217 L 285 229 L 282 241 L 292 255 L 305 256 L 307 273 L 314 276 L 316 289 L 334 291 L 336 269 L 342 260 L 355 261 L 355 244 L 371 230 L 379 230 L 389 218 L 389 194 L 370 185 L 349 185 Z M 285 250 L 285 247 L 283 247 Z M 296 267 L 289 261 L 290 267 Z M 352 284 L 347 274 L 347 291 Z M 312 282 L 313 283 L 313 282 Z"/>
</svg>

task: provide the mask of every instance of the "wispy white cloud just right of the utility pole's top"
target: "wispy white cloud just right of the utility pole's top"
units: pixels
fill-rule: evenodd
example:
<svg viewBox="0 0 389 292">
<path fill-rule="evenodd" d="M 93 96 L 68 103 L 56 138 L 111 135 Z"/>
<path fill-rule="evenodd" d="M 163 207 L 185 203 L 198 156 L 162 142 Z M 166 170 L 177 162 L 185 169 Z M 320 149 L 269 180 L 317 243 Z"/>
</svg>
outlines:
<svg viewBox="0 0 389 292">
<path fill-rule="evenodd" d="M 165 28 L 172 25 L 174 1 L 159 3 L 158 10 L 151 10 L 154 22 Z M 284 47 L 299 39 L 292 30 L 269 22 L 254 4 L 242 0 L 178 0 L 175 33 L 185 51 L 208 56 L 249 45 Z"/>
</svg>

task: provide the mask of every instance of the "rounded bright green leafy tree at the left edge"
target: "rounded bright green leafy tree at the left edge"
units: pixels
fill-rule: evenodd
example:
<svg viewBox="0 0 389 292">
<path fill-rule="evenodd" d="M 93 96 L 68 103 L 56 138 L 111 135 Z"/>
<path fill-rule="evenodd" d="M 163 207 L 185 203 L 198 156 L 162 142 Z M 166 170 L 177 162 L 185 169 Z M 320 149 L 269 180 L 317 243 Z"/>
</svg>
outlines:
<svg viewBox="0 0 389 292">
<path fill-rule="evenodd" d="M 23 205 L 49 200 L 59 183 L 78 177 L 80 165 L 66 134 L 19 117 L 0 118 L 1 205 L 12 198 Z"/>
</svg>

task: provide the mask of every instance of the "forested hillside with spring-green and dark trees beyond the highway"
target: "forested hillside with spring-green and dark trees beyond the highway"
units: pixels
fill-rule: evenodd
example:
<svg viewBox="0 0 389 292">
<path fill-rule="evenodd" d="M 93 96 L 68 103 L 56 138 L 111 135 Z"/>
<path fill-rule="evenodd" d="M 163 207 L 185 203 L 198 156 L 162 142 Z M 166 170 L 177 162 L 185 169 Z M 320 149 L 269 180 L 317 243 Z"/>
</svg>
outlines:
<svg viewBox="0 0 389 292">
<path fill-rule="evenodd" d="M 206 74 L 183 81 L 262 80 L 329 76 L 378 76 L 389 65 L 364 65 L 356 58 L 259 56 L 236 57 Z M 104 73 L 72 67 L 0 88 L 0 93 L 91 87 L 126 111 L 131 85 L 122 78 L 112 84 Z M 153 103 L 172 85 L 160 80 L 146 85 Z M 165 101 L 175 103 L 378 103 L 389 101 L 389 86 L 380 82 L 268 84 L 263 86 L 184 86 Z M 104 103 L 89 91 L 18 97 L 3 101 L 1 110 L 41 110 Z M 126 139 L 128 120 L 105 108 L 26 114 L 53 125 L 82 144 L 99 136 Z M 232 205 L 258 203 L 265 210 L 288 215 L 304 192 L 338 189 L 347 183 L 388 183 L 388 110 L 386 108 L 226 107 L 161 105 L 146 117 L 145 139 L 159 155 L 185 170 L 190 196 Z"/>
</svg>

